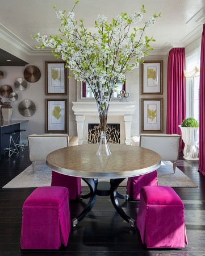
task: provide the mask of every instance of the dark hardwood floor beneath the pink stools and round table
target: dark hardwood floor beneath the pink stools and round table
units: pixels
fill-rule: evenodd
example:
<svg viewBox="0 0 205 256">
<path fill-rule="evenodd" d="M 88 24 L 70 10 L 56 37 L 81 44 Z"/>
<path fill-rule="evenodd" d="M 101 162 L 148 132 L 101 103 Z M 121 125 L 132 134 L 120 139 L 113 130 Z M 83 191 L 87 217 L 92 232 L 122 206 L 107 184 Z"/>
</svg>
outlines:
<svg viewBox="0 0 205 256">
<path fill-rule="evenodd" d="M 191 178 L 198 188 L 175 188 L 174 190 L 185 205 L 186 232 L 189 245 L 185 249 L 148 250 L 141 243 L 137 229 L 131 228 L 116 213 L 110 197 L 98 197 L 90 214 L 76 228 L 72 228 L 68 246 L 59 250 L 21 250 L 20 228 L 22 222 L 22 205 L 34 188 L 2 189 L 3 185 L 22 172 L 31 164 L 28 149 L 19 156 L 11 158 L 2 156 L 0 162 L 0 256 L 43 256 L 43 255 L 205 255 L 205 176 L 198 172 L 198 162 L 185 161 L 182 158 L 177 166 Z M 88 188 L 82 189 L 83 193 Z M 119 188 L 125 193 L 125 188 Z M 136 218 L 139 203 L 119 200 L 123 209 Z M 81 212 L 86 200 L 70 201 L 71 218 Z"/>
</svg>

